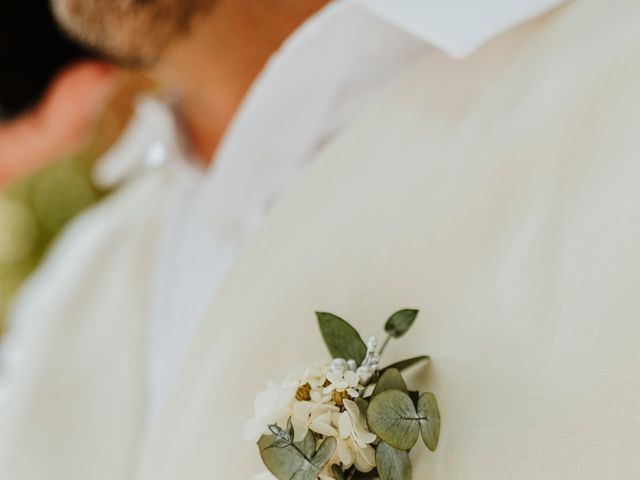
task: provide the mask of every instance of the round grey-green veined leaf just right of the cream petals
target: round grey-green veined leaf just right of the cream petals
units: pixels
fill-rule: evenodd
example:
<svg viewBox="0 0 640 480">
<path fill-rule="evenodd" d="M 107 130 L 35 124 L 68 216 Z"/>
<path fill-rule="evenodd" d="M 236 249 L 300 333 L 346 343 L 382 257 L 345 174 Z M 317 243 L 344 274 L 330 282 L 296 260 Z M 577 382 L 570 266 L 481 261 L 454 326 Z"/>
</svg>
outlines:
<svg viewBox="0 0 640 480">
<path fill-rule="evenodd" d="M 367 421 L 382 441 L 399 450 L 410 450 L 418 441 L 420 419 L 405 392 L 387 390 L 373 397 Z"/>
</svg>

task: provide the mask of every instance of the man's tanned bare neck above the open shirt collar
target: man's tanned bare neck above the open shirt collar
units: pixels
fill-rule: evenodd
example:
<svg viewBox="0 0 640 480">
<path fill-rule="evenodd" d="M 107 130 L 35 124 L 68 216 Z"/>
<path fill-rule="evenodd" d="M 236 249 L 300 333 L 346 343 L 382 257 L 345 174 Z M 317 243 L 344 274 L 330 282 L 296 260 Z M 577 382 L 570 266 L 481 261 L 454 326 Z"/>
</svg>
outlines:
<svg viewBox="0 0 640 480">
<path fill-rule="evenodd" d="M 282 42 L 328 0 L 218 0 L 172 45 L 154 76 L 178 95 L 193 151 L 207 163 L 247 90 Z"/>
</svg>

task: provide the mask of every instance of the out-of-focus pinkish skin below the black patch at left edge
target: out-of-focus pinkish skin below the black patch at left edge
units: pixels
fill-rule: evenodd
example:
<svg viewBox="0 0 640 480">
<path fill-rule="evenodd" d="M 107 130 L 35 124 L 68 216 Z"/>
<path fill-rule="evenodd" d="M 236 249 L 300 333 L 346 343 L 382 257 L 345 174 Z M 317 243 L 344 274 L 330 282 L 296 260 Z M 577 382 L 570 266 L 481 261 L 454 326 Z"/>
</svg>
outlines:
<svg viewBox="0 0 640 480">
<path fill-rule="evenodd" d="M 80 149 L 118 77 L 108 64 L 73 65 L 32 111 L 0 124 L 0 188 Z"/>
</svg>

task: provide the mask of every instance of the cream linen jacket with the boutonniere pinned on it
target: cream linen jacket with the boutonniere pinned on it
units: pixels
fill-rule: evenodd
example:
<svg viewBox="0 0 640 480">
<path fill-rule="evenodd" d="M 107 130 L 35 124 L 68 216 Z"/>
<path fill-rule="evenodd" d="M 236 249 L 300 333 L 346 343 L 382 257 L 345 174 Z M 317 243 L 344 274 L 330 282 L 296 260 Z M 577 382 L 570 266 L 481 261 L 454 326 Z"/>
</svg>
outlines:
<svg viewBox="0 0 640 480">
<path fill-rule="evenodd" d="M 443 419 L 415 479 L 639 478 L 639 21 L 632 0 L 577 1 L 464 60 L 425 57 L 275 207 L 144 442 L 144 190 L 161 180 L 101 207 L 117 224 L 33 307 L 0 478 L 251 478 L 244 423 L 268 379 L 325 355 L 314 311 L 369 335 L 401 307 L 421 313 L 386 359 L 431 355 L 410 382 Z"/>
</svg>

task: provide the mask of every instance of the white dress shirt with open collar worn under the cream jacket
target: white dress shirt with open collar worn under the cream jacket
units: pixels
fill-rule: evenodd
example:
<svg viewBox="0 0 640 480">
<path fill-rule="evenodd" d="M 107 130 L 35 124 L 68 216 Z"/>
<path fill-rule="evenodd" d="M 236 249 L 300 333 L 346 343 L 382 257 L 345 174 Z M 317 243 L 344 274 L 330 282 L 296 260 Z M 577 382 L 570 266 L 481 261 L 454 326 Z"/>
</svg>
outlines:
<svg viewBox="0 0 640 480">
<path fill-rule="evenodd" d="M 434 47 L 465 56 L 558 3 L 336 0 L 273 55 L 208 171 L 182 147 L 168 103 L 140 101 L 128 131 L 99 164 L 96 178 L 102 185 L 117 186 L 135 182 L 148 171 L 166 172 L 158 202 L 164 209 L 163 233 L 149 246 L 155 259 L 149 421 L 157 415 L 194 329 L 234 259 L 269 207 L 323 146 L 393 79 L 435 53 Z M 37 295 L 35 287 L 42 283 L 34 282 L 22 301 Z"/>
</svg>

